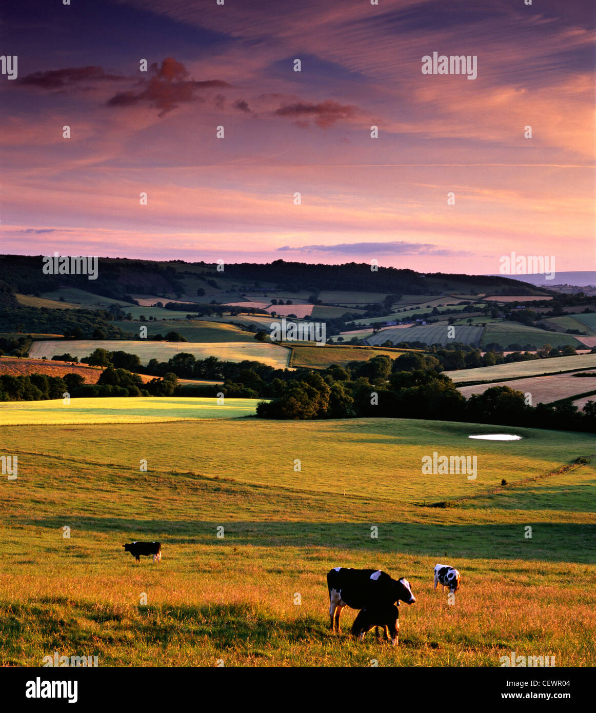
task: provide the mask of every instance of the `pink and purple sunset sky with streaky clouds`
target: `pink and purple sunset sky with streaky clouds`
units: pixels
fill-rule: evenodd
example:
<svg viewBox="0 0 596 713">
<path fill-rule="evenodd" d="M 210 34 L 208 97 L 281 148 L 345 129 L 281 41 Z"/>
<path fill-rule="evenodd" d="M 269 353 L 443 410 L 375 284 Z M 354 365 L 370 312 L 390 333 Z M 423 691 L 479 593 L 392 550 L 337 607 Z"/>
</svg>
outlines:
<svg viewBox="0 0 596 713">
<path fill-rule="evenodd" d="M 596 270 L 590 1 L 3 14 L 3 253 L 490 274 L 515 251 Z M 478 77 L 423 75 L 433 51 L 477 56 Z"/>
</svg>

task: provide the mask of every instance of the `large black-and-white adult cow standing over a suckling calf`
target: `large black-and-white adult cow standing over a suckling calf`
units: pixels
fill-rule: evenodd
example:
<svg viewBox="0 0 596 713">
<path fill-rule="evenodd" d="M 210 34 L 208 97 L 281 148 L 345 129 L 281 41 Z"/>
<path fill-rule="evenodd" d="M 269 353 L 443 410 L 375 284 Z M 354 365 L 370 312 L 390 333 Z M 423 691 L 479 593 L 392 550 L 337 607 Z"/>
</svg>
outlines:
<svg viewBox="0 0 596 713">
<path fill-rule="evenodd" d="M 400 600 L 406 604 L 416 601 L 408 580 L 403 577 L 394 580 L 381 570 L 336 567 L 327 573 L 327 587 L 331 630 L 336 627 L 338 633 L 339 615 L 344 607 L 366 609 L 395 604 Z"/>
</svg>

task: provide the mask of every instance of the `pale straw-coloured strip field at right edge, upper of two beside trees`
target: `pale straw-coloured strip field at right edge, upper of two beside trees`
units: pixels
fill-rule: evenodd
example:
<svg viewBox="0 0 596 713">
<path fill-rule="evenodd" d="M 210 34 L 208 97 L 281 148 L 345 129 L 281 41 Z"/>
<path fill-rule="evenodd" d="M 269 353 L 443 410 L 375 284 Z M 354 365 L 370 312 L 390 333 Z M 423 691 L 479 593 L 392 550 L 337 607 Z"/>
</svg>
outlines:
<svg viewBox="0 0 596 713">
<path fill-rule="evenodd" d="M 459 369 L 444 371 L 456 383 L 466 381 L 495 381 L 497 379 L 515 379 L 518 376 L 537 376 L 555 374 L 558 371 L 575 371 L 596 367 L 596 354 L 578 354 L 577 356 L 553 356 L 550 359 L 532 359 L 531 361 L 513 361 L 511 364 L 482 366 L 479 369 Z M 579 379 L 577 379 L 579 381 Z"/>
</svg>

